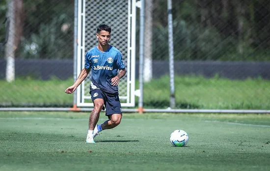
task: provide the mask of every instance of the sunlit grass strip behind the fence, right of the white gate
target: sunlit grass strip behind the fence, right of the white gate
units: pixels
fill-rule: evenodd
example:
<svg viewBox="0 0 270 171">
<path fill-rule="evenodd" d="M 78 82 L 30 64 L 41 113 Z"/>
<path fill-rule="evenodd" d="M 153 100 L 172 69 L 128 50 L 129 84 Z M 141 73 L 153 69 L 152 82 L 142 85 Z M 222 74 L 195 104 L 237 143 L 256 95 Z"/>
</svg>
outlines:
<svg viewBox="0 0 270 171">
<path fill-rule="evenodd" d="M 270 109 L 270 81 L 175 77 L 177 108 Z M 144 84 L 144 106 L 169 107 L 169 77 Z"/>
</svg>

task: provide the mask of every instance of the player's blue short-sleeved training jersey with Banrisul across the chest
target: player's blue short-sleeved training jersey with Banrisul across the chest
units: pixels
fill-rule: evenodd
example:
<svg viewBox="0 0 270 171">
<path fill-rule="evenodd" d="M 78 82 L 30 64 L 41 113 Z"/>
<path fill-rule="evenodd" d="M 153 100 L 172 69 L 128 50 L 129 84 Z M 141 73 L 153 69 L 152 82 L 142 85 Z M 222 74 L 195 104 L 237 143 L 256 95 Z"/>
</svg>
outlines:
<svg viewBox="0 0 270 171">
<path fill-rule="evenodd" d="M 111 85 L 111 79 L 118 74 L 118 69 L 125 68 L 121 52 L 110 45 L 102 52 L 97 46 L 85 55 L 86 69 L 91 67 L 91 89 L 99 88 L 108 94 L 118 94 L 118 86 Z"/>
</svg>

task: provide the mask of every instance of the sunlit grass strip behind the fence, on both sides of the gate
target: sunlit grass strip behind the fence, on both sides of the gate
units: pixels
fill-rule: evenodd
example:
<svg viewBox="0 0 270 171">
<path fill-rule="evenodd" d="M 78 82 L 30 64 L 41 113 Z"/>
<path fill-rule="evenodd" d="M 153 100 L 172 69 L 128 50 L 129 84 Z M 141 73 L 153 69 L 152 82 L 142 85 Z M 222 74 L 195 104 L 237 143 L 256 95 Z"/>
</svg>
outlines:
<svg viewBox="0 0 270 171">
<path fill-rule="evenodd" d="M 73 96 L 64 90 L 73 80 L 48 81 L 17 79 L 13 83 L 0 80 L 0 107 L 72 107 Z M 228 80 L 218 76 L 175 77 L 176 108 L 187 109 L 269 109 L 270 80 Z M 88 87 L 88 85 L 87 85 Z M 136 89 L 139 89 L 136 82 Z M 136 97 L 136 103 L 138 98 Z M 170 106 L 169 77 L 144 84 L 144 107 Z"/>
</svg>

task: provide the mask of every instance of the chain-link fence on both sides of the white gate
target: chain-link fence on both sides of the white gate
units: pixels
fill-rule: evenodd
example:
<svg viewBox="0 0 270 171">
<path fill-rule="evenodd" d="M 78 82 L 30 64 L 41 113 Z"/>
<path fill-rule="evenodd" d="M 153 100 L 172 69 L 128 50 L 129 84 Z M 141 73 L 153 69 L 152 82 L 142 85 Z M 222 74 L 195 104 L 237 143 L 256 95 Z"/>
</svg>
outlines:
<svg viewBox="0 0 270 171">
<path fill-rule="evenodd" d="M 88 7 L 91 2 L 86 0 Z M 87 15 L 91 10 L 97 13 L 93 6 Z M 71 107 L 73 97 L 64 90 L 74 81 L 74 0 L 1 1 L 0 14 L 0 42 L 6 35 L 2 23 L 6 17 L 10 19 L 9 40 L 0 52 L 0 107 Z M 137 80 L 138 16 L 139 8 Z M 172 16 L 176 108 L 270 108 L 268 0 L 172 0 Z M 113 16 L 103 18 L 120 22 L 113 21 Z M 167 0 L 145 0 L 144 25 L 143 106 L 167 108 Z M 94 36 L 94 32 L 90 34 Z M 12 59 L 13 68 L 9 65 Z M 136 89 L 138 85 L 136 81 Z M 138 97 L 135 107 L 137 102 Z"/>
</svg>

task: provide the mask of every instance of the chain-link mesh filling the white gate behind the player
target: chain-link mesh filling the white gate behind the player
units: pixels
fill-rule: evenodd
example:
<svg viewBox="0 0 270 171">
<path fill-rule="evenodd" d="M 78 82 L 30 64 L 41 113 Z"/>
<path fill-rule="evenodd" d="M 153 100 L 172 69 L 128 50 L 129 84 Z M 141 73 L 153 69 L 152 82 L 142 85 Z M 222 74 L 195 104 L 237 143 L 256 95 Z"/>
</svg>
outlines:
<svg viewBox="0 0 270 171">
<path fill-rule="evenodd" d="M 128 67 L 128 2 L 129 0 L 85 1 L 85 45 L 84 53 L 81 54 L 82 61 L 85 59 L 85 53 L 97 45 L 97 26 L 100 24 L 107 24 L 112 28 L 110 44 L 117 47 L 122 53 L 123 62 L 126 68 Z M 82 6 L 84 6 L 84 4 L 82 4 Z M 93 12 L 93 9 L 95 9 L 96 12 Z M 83 29 L 81 30 L 83 31 Z M 121 97 L 128 96 L 127 75 L 128 74 L 126 74 L 119 82 L 119 94 L 122 103 L 126 103 L 127 98 Z M 84 91 L 84 97 L 88 98 L 88 102 L 92 105 L 92 100 L 90 99 L 91 95 L 89 94 L 89 85 L 91 83 L 90 76 L 91 74 L 88 74 L 88 78 L 84 81 L 84 88 L 82 91 Z"/>
</svg>

